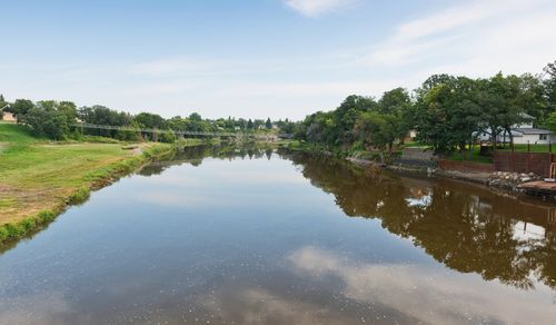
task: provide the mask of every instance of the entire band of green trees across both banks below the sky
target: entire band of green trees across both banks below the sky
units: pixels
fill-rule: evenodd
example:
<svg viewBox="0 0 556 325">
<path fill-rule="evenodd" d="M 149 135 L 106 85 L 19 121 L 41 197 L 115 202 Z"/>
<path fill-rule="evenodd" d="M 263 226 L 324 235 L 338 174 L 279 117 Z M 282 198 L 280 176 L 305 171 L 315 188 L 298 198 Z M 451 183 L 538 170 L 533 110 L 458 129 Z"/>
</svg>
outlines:
<svg viewBox="0 0 556 325">
<path fill-rule="evenodd" d="M 8 102 L 0 97 L 0 108 Z M 71 101 L 17 99 L 4 111 L 29 125 L 36 135 L 63 139 L 77 132 L 76 121 L 95 125 L 126 126 L 137 131 L 85 130 L 97 136 L 122 140 L 141 140 L 140 128 L 168 130 L 155 135 L 161 141 L 173 141 L 172 131 L 264 131 L 278 128 L 295 134 L 299 140 L 330 150 L 391 151 L 404 144 L 410 131 L 415 140 L 438 154 L 465 151 L 479 135 L 492 140 L 504 136 L 513 144 L 512 128 L 522 122 L 556 131 L 556 61 L 540 75 L 504 76 L 473 79 L 434 75 L 409 92 L 404 88 L 386 91 L 379 99 L 349 96 L 332 111 L 311 114 L 300 122 L 270 119 L 203 119 L 193 112 L 188 117 L 165 119 L 159 115 L 130 115 L 103 106 L 80 107 Z M 152 136 L 151 136 L 152 137 Z M 496 145 L 496 144 L 495 144 Z"/>
</svg>

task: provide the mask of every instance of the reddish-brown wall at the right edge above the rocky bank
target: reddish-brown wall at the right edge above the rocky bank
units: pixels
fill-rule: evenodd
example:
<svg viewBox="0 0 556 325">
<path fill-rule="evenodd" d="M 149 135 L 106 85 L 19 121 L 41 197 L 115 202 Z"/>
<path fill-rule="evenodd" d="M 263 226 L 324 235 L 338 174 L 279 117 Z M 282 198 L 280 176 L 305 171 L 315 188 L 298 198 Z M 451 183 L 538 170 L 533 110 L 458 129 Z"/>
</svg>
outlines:
<svg viewBox="0 0 556 325">
<path fill-rule="evenodd" d="M 553 155 L 548 152 L 494 152 L 494 165 L 499 171 L 535 173 L 548 177 Z"/>
</svg>

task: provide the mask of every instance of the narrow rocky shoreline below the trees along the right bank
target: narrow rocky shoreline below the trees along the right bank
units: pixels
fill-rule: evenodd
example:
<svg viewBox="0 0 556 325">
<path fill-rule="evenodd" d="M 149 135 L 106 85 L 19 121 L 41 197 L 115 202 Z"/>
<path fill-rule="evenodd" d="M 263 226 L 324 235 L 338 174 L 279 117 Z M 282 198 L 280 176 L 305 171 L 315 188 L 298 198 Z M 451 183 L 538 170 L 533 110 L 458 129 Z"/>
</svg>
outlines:
<svg viewBox="0 0 556 325">
<path fill-rule="evenodd" d="M 512 184 L 507 181 L 493 181 L 490 179 L 490 175 L 486 173 L 460 173 L 460 171 L 453 171 L 453 170 L 443 170 L 439 168 L 430 168 L 430 167 L 420 167 L 420 166 L 413 166 L 413 165 L 404 165 L 404 164 L 380 164 L 370 159 L 365 159 L 365 158 L 359 158 L 359 157 L 353 157 L 353 156 L 347 156 L 346 152 L 332 152 L 330 150 L 321 150 L 322 148 L 318 146 L 304 146 L 304 145 L 297 145 L 297 146 L 291 146 L 288 148 L 290 151 L 298 151 L 298 152 L 305 152 L 305 154 L 310 154 L 310 155 L 322 155 L 326 157 L 336 157 L 339 159 L 344 159 L 350 164 L 355 164 L 358 166 L 373 166 L 376 168 L 384 168 L 388 170 L 393 170 L 396 173 L 400 174 L 413 174 L 413 175 L 420 175 L 420 176 L 428 176 L 428 177 L 439 177 L 439 178 L 447 178 L 447 179 L 455 179 L 459 181 L 465 181 L 469 184 L 475 184 L 475 185 L 481 185 L 487 187 L 488 189 L 506 195 L 506 196 L 513 196 L 517 197 L 519 195 L 523 195 L 524 191 L 517 186 L 517 184 Z"/>
</svg>

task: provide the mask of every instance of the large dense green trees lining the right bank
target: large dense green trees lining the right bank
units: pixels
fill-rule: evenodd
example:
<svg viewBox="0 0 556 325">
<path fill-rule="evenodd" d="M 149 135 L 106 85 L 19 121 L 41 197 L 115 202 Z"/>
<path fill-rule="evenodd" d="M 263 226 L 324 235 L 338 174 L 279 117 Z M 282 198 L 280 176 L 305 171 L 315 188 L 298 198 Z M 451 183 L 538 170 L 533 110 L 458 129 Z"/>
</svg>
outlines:
<svg viewBox="0 0 556 325">
<path fill-rule="evenodd" d="M 435 75 L 413 92 L 396 88 L 378 100 L 349 96 L 336 110 L 307 116 L 296 137 L 334 150 L 389 151 L 413 130 L 417 141 L 449 154 L 469 148 L 479 134 L 494 142 L 507 136 L 513 144 L 510 129 L 527 115 L 536 126 L 556 130 L 555 111 L 556 61 L 542 75 Z"/>
</svg>

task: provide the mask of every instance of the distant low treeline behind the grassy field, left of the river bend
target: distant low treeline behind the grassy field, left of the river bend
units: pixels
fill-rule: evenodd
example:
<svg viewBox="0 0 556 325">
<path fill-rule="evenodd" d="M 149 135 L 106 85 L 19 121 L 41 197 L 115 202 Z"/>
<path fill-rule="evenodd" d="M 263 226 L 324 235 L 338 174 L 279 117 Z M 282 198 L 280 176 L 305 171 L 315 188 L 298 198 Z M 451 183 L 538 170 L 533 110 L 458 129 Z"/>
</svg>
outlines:
<svg viewBox="0 0 556 325">
<path fill-rule="evenodd" d="M 0 95 L 1 96 L 1 95 Z M 279 120 L 272 122 L 270 118 L 245 119 L 245 118 L 219 118 L 203 119 L 199 114 L 193 112 L 188 117 L 172 117 L 165 119 L 157 114 L 141 112 L 131 115 L 125 111 L 113 110 L 103 106 L 91 106 L 78 108 L 72 101 L 41 100 L 33 102 L 29 99 L 17 99 L 7 102 L 0 97 L 0 108 L 7 107 L 3 111 L 12 112 L 18 122 L 28 125 L 36 136 L 44 136 L 52 139 L 64 139 L 79 136 L 82 131 L 86 135 L 111 137 L 120 140 L 158 140 L 171 142 L 176 139 L 173 131 L 205 131 L 205 132 L 234 132 L 234 131 L 268 131 L 272 128 L 294 130 L 294 124 Z M 71 126 L 77 122 L 92 125 L 127 127 L 133 130 L 103 130 L 103 129 L 80 129 Z M 146 135 L 139 131 L 142 128 L 159 129 L 161 132 Z"/>
</svg>

